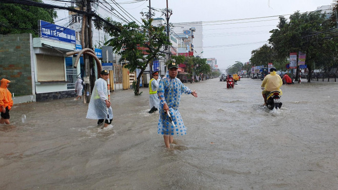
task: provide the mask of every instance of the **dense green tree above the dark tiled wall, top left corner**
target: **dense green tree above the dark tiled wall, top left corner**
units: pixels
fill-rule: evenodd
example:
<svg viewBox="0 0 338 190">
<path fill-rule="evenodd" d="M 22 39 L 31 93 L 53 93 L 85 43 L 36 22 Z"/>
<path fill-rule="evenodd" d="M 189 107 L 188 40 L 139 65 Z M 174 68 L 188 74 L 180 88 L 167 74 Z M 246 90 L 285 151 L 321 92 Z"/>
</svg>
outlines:
<svg viewBox="0 0 338 190">
<path fill-rule="evenodd" d="M 42 3 L 41 0 L 32 0 Z M 38 20 L 54 23 L 57 13 L 53 9 L 0 3 L 0 34 L 31 33 L 38 37 Z"/>
</svg>

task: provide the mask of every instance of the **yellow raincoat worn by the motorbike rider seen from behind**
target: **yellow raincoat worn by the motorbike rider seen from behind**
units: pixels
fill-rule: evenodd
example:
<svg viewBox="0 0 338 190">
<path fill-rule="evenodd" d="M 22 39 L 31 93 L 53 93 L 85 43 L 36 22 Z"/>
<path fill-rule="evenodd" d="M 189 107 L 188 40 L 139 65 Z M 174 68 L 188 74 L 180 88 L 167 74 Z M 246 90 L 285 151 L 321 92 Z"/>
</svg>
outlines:
<svg viewBox="0 0 338 190">
<path fill-rule="evenodd" d="M 282 78 L 276 73 L 276 71 L 272 71 L 264 77 L 261 86 L 265 87 L 265 89 L 262 91 L 262 94 L 265 94 L 265 92 L 280 91 L 280 95 L 282 95 L 282 89 L 280 89 L 282 85 Z"/>
</svg>

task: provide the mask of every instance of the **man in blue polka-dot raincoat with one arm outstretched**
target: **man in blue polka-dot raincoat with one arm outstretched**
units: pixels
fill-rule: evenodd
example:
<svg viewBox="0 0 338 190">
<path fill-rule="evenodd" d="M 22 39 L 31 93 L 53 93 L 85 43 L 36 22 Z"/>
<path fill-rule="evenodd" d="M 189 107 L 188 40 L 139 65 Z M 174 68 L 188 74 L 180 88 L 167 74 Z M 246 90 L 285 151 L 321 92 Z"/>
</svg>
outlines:
<svg viewBox="0 0 338 190">
<path fill-rule="evenodd" d="M 186 128 L 183 124 L 179 112 L 180 99 L 183 93 L 192 94 L 197 97 L 196 91 L 192 91 L 183 85 L 177 76 L 178 65 L 175 62 L 168 65 L 168 72 L 159 83 L 157 94 L 160 99 L 160 118 L 158 121 L 158 134 L 163 135 L 165 147 L 170 147 L 174 136 L 186 134 Z M 172 116 L 175 126 L 171 123 L 166 112 Z"/>
</svg>

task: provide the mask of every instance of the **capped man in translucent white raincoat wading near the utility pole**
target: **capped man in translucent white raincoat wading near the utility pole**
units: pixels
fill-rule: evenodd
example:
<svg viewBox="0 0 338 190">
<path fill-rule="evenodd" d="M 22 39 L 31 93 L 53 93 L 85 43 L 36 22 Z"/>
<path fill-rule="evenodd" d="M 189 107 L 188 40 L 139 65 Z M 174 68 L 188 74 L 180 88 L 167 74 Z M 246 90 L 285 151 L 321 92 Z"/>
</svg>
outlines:
<svg viewBox="0 0 338 190">
<path fill-rule="evenodd" d="M 92 97 L 88 105 L 87 117 L 88 119 L 98 119 L 97 124 L 103 123 L 103 127 L 107 127 L 112 123 L 113 110 L 108 100 L 107 80 L 109 72 L 103 70 L 100 73 L 100 78 L 95 81 Z M 108 119 L 109 117 L 109 119 Z"/>
</svg>

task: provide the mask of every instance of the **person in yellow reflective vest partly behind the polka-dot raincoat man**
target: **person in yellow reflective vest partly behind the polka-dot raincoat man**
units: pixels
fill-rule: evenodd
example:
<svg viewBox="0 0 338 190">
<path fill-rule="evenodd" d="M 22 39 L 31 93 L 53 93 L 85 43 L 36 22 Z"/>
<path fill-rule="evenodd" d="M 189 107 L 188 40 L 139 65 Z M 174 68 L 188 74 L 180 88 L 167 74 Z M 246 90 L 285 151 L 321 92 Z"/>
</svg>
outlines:
<svg viewBox="0 0 338 190">
<path fill-rule="evenodd" d="M 158 71 L 153 72 L 153 78 L 149 82 L 149 105 L 150 111 L 148 113 L 153 113 L 159 109 L 160 100 L 157 95 L 158 88 Z"/>
</svg>

